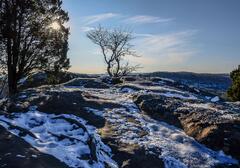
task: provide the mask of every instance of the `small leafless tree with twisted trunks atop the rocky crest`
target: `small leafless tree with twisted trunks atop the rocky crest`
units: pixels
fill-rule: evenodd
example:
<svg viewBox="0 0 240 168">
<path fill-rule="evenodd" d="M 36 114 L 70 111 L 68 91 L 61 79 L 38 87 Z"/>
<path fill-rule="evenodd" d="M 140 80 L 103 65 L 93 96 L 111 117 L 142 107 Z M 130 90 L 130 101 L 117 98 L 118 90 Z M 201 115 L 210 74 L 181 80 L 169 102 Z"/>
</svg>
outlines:
<svg viewBox="0 0 240 168">
<path fill-rule="evenodd" d="M 138 56 L 133 50 L 133 45 L 130 44 L 133 39 L 130 31 L 108 30 L 99 25 L 94 30 L 89 31 L 87 37 L 94 44 L 100 46 L 109 76 L 125 76 L 139 68 L 138 65 L 130 66 L 126 60 L 128 56 Z"/>
</svg>

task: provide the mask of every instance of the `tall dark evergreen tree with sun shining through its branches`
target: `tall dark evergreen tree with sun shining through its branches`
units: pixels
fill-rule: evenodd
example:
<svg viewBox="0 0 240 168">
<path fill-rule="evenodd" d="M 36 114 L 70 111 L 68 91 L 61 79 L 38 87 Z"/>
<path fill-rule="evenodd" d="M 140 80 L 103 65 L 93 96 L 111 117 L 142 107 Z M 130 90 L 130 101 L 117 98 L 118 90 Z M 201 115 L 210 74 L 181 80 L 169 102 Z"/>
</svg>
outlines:
<svg viewBox="0 0 240 168">
<path fill-rule="evenodd" d="M 68 14 L 61 0 L 0 1 L 0 66 L 8 74 L 9 93 L 36 70 L 69 68 Z"/>
</svg>

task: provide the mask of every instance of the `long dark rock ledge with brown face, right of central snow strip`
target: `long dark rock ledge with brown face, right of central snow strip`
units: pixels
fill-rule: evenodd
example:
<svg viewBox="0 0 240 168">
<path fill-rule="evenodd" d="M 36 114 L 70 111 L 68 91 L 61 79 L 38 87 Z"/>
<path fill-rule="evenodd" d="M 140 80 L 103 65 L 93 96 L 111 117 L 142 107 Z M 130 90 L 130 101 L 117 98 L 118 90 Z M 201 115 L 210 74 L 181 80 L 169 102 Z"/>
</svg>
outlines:
<svg viewBox="0 0 240 168">
<path fill-rule="evenodd" d="M 134 101 L 152 118 L 182 128 L 206 146 L 240 159 L 240 113 L 237 111 L 230 111 L 226 105 L 196 100 L 190 103 L 154 94 L 137 95 Z"/>
</svg>

